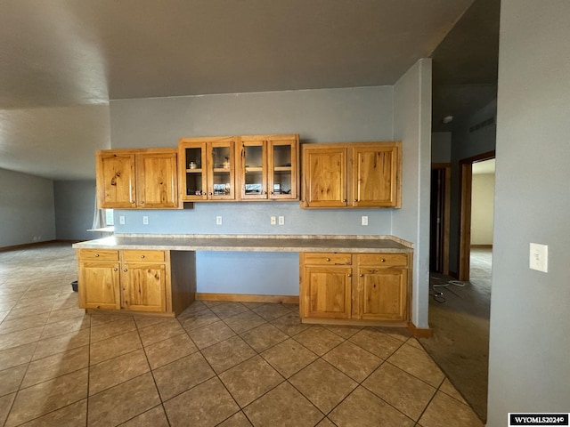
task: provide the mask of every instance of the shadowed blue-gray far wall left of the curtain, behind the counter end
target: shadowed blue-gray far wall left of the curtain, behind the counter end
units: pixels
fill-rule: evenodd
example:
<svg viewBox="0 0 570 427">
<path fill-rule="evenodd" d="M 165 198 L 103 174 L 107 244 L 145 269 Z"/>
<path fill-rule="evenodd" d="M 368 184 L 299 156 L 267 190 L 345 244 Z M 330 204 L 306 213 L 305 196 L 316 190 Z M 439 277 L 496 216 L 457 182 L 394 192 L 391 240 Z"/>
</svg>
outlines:
<svg viewBox="0 0 570 427">
<path fill-rule="evenodd" d="M 59 240 L 89 240 L 93 225 L 95 181 L 54 181 L 55 230 Z"/>
</svg>

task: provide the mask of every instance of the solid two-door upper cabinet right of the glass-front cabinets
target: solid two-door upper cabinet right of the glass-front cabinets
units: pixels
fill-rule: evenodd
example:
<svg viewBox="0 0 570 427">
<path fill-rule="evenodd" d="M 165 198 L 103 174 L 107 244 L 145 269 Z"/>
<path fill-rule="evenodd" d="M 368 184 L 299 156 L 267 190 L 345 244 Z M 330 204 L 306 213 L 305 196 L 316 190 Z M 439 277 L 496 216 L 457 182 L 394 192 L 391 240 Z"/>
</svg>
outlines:
<svg viewBox="0 0 570 427">
<path fill-rule="evenodd" d="M 402 142 L 305 144 L 301 207 L 401 207 Z"/>
</svg>

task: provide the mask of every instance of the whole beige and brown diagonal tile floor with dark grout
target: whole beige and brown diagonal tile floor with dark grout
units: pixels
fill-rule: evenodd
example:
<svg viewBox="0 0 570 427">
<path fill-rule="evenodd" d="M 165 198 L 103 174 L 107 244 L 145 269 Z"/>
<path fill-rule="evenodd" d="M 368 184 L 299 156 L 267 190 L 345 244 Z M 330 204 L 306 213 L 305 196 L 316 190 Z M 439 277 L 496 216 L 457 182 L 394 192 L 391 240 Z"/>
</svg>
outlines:
<svg viewBox="0 0 570 427">
<path fill-rule="evenodd" d="M 481 426 L 407 331 L 287 304 L 85 315 L 67 244 L 0 253 L 0 425 Z"/>
</svg>

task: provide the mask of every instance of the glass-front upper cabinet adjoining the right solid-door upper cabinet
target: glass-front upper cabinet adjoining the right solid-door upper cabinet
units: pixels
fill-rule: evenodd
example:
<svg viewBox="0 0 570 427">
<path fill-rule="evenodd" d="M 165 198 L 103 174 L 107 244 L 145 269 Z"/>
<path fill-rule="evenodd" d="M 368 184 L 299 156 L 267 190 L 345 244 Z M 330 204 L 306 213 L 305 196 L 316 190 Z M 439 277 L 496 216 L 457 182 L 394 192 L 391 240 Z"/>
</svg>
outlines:
<svg viewBox="0 0 570 427">
<path fill-rule="evenodd" d="M 298 200 L 298 135 L 241 136 L 239 140 L 240 198 Z"/>
</svg>

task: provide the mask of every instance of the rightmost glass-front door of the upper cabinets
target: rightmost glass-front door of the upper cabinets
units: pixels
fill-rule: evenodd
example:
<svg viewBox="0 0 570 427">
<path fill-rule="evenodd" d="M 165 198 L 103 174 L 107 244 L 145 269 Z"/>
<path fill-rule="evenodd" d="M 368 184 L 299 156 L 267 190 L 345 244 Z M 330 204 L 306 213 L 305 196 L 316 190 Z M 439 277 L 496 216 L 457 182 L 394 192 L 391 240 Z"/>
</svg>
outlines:
<svg viewBox="0 0 570 427">
<path fill-rule="evenodd" d="M 269 197 L 297 199 L 297 141 L 269 141 Z"/>
</svg>

